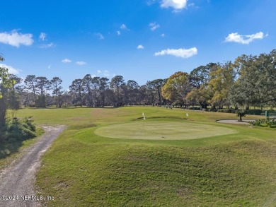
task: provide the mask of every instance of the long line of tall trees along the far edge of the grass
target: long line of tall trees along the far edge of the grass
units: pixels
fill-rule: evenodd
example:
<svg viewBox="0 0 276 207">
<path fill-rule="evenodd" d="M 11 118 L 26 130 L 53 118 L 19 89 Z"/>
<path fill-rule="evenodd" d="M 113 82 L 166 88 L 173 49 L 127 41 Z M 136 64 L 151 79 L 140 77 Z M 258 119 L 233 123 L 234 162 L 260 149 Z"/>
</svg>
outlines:
<svg viewBox="0 0 276 207">
<path fill-rule="evenodd" d="M 234 62 L 209 63 L 190 73 L 178 71 L 165 79 L 125 81 L 122 76 L 75 79 L 69 90 L 62 88 L 62 79 L 28 75 L 25 80 L 0 73 L 0 119 L 6 109 L 26 107 L 57 107 L 74 105 L 104 107 L 123 105 L 200 105 L 206 108 L 275 107 L 276 103 L 276 49 L 258 56 L 241 55 Z M 0 59 L 4 60 L 3 57 Z"/>
</svg>

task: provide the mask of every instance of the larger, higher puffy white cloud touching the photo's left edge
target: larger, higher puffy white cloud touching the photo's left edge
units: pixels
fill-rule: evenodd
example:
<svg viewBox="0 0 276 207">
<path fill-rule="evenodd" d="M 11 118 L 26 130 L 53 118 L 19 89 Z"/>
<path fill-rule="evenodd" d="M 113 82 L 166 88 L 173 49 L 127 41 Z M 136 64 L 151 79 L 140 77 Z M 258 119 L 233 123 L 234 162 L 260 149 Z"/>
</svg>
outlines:
<svg viewBox="0 0 276 207">
<path fill-rule="evenodd" d="M 11 32 L 2 32 L 0 33 L 0 42 L 14 47 L 19 47 L 20 45 L 32 45 L 33 35 L 21 34 L 18 33 L 17 30 L 12 30 Z"/>
</svg>

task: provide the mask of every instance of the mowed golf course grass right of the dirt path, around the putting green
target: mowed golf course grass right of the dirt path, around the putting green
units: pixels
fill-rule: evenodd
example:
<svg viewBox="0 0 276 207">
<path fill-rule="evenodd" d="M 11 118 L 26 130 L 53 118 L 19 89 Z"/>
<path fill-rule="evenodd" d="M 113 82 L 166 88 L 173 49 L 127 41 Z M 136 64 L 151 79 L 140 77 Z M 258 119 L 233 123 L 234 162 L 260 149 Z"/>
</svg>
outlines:
<svg viewBox="0 0 276 207">
<path fill-rule="evenodd" d="M 41 125 L 67 125 L 37 174 L 39 194 L 54 196 L 47 206 L 276 206 L 276 130 L 215 122 L 237 119 L 236 114 L 164 107 L 23 109 L 17 114 L 30 115 Z M 157 125 L 148 127 L 152 123 Z M 143 127 L 149 139 L 139 139 Z M 170 134 L 160 132 L 150 139 L 151 130 L 185 134 L 185 127 L 186 134 L 198 127 L 203 138 L 178 134 L 166 139 Z M 215 130 L 204 136 L 205 129 Z"/>
</svg>

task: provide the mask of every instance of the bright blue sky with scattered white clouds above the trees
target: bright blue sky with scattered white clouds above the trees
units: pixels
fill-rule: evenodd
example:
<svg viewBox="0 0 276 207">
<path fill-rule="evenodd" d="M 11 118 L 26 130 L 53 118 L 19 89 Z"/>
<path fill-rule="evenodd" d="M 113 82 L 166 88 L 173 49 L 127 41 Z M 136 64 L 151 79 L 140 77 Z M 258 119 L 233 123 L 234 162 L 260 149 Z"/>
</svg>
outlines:
<svg viewBox="0 0 276 207">
<path fill-rule="evenodd" d="M 274 0 L 3 1 L 0 53 L 11 73 L 86 74 L 143 85 L 209 62 L 275 49 Z"/>
</svg>

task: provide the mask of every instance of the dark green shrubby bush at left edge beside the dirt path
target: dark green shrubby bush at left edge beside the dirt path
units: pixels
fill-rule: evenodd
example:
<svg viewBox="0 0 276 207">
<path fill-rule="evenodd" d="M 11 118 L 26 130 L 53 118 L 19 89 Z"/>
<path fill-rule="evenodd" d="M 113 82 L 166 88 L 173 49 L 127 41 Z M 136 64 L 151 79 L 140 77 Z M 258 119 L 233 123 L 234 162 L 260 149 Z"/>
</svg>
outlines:
<svg viewBox="0 0 276 207">
<path fill-rule="evenodd" d="M 22 146 L 22 142 L 37 136 L 32 117 L 8 119 L 6 126 L 0 130 L 0 158 L 14 153 Z"/>
</svg>

